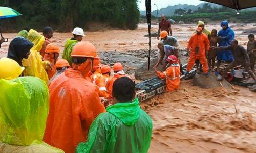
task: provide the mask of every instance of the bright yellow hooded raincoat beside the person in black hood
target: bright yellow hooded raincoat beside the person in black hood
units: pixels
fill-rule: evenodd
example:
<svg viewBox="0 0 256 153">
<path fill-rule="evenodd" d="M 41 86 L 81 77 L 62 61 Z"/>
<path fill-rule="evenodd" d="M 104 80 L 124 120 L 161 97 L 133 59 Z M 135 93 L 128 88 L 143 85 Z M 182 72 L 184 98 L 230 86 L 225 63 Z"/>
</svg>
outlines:
<svg viewBox="0 0 256 153">
<path fill-rule="evenodd" d="M 47 83 L 49 79 L 47 72 L 44 69 L 47 62 L 42 61 L 42 56 L 39 53 L 42 48 L 42 44 L 44 44 L 45 37 L 31 29 L 28 33 L 28 39 L 34 44 L 34 46 L 30 49 L 31 53 L 29 58 L 24 59 L 22 62 L 25 67 L 24 75 L 38 77 Z"/>
</svg>

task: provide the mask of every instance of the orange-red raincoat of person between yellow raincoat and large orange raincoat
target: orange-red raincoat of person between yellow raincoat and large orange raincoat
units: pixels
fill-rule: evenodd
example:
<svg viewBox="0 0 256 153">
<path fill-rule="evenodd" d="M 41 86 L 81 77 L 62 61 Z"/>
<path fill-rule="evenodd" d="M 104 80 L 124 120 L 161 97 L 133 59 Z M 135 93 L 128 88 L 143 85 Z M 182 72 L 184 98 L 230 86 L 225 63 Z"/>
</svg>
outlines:
<svg viewBox="0 0 256 153">
<path fill-rule="evenodd" d="M 44 61 L 49 61 L 51 66 L 52 66 L 52 69 L 49 67 L 48 69 L 46 69 L 46 72 L 48 74 L 48 78 L 49 80 L 55 75 L 55 73 L 57 72 L 57 69 L 56 69 L 56 66 L 55 66 L 55 63 L 58 59 L 54 59 L 54 54 L 45 54 L 44 56 Z"/>
</svg>

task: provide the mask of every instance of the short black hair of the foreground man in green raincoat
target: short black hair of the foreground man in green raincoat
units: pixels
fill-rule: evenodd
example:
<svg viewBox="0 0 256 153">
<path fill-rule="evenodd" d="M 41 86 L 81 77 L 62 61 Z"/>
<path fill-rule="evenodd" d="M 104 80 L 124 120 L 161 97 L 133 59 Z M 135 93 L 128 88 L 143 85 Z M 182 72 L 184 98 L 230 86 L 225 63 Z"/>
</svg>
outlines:
<svg viewBox="0 0 256 153">
<path fill-rule="evenodd" d="M 131 102 L 134 93 L 135 83 L 128 77 L 118 78 L 113 84 L 112 94 L 119 103 Z"/>
</svg>

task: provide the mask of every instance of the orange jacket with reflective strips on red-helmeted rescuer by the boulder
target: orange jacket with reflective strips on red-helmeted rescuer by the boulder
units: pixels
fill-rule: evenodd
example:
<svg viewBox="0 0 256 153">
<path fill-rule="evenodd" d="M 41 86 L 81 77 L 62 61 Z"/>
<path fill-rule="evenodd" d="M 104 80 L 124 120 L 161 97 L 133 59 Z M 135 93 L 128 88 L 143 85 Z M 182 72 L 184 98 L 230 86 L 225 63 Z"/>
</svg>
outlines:
<svg viewBox="0 0 256 153">
<path fill-rule="evenodd" d="M 164 72 L 157 72 L 160 79 L 166 78 L 166 92 L 180 87 L 180 64 L 171 64 Z"/>
</svg>

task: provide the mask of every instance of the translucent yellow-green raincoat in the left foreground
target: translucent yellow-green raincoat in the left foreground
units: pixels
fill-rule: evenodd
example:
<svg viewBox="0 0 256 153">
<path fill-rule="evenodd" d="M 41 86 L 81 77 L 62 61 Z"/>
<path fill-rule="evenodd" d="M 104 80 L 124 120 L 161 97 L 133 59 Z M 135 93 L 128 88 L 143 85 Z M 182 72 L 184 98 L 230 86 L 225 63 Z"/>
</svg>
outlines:
<svg viewBox="0 0 256 153">
<path fill-rule="evenodd" d="M 0 79 L 1 152 L 63 152 L 42 141 L 49 112 L 47 85 L 36 77 Z"/>
</svg>

